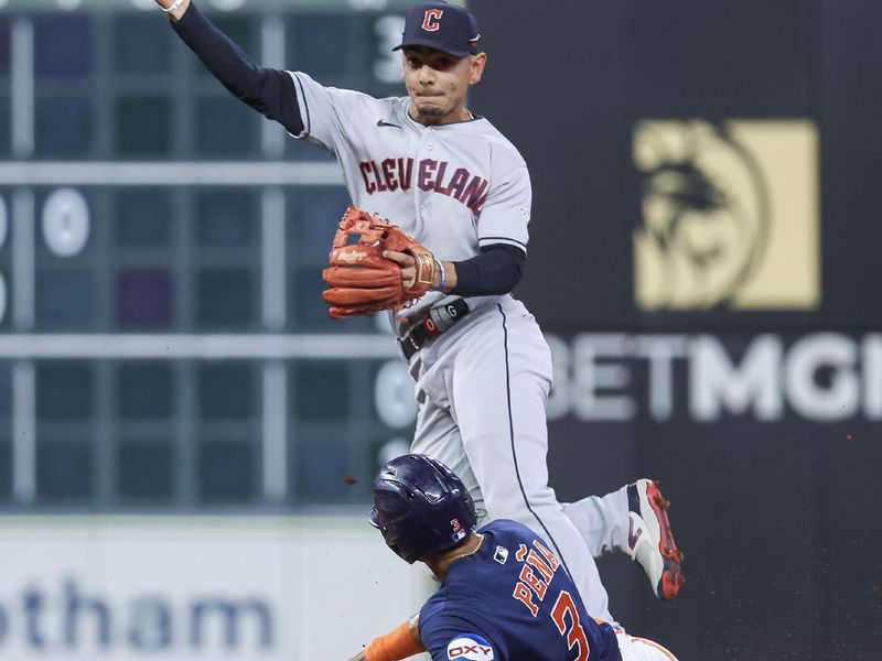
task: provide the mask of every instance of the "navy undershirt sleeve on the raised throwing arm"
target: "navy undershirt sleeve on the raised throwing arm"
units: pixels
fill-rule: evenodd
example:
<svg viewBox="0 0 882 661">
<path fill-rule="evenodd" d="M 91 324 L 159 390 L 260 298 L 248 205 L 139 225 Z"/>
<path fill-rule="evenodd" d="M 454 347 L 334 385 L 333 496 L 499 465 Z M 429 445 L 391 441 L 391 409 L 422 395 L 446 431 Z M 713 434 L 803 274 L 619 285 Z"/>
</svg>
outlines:
<svg viewBox="0 0 882 661">
<path fill-rule="evenodd" d="M 291 134 L 303 132 L 297 90 L 290 74 L 256 65 L 193 2 L 173 28 L 236 98 L 278 121 Z"/>
</svg>

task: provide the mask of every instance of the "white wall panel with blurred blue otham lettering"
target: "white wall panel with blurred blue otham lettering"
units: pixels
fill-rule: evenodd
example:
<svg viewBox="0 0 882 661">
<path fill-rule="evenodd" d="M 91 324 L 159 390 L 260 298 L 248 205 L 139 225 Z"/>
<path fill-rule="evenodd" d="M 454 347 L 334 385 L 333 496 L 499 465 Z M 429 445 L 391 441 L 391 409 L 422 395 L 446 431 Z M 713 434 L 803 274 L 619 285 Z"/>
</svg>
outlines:
<svg viewBox="0 0 882 661">
<path fill-rule="evenodd" d="M 0 563 L 19 661 L 347 659 L 428 593 L 363 517 L 7 517 Z"/>
</svg>

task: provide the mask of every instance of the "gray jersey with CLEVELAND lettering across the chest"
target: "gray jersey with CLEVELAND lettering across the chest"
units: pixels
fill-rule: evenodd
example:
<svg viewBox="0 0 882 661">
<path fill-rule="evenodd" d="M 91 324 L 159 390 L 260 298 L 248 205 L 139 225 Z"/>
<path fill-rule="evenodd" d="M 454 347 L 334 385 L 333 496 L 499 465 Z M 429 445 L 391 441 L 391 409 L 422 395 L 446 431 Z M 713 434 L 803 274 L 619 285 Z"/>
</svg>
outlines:
<svg viewBox="0 0 882 661">
<path fill-rule="evenodd" d="M 407 97 L 376 99 L 292 73 L 304 130 L 333 153 L 353 204 L 398 225 L 442 261 L 483 246 L 527 249 L 531 188 L 517 149 L 486 119 L 426 127 Z M 430 292 L 411 314 L 443 297 Z"/>
</svg>

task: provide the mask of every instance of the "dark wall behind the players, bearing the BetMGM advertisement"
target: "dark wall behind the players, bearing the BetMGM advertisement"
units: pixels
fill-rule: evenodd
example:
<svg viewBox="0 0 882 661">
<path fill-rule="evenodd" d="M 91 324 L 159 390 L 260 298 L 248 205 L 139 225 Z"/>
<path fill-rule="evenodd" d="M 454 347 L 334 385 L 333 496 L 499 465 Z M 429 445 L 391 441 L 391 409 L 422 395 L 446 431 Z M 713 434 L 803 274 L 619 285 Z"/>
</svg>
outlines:
<svg viewBox="0 0 882 661">
<path fill-rule="evenodd" d="M 519 295 L 558 348 L 566 401 L 550 423 L 552 484 L 576 499 L 639 475 L 662 478 L 687 554 L 688 583 L 670 604 L 656 602 L 626 560 L 602 559 L 614 615 L 681 660 L 882 658 L 882 371 L 873 348 L 882 329 L 882 3 L 471 7 L 490 55 L 474 108 L 533 174 Z M 635 302 L 633 237 L 647 178 L 634 140 L 646 120 L 815 127 L 814 303 L 745 307 L 736 294 L 681 308 Z M 774 201 L 774 177 L 766 184 Z M 679 347 L 668 362 L 638 348 L 652 338 Z M 716 361 L 708 343 L 722 351 Z M 670 368 L 660 386 L 659 365 Z M 731 368 L 728 395 L 714 394 L 708 377 L 720 365 Z M 624 381 L 592 389 L 605 378 L 598 369 L 611 366 L 625 370 Z M 739 400 L 738 375 L 749 372 Z M 587 400 L 599 394 L 630 408 L 604 414 Z M 702 408 L 706 395 L 716 412 Z"/>
</svg>

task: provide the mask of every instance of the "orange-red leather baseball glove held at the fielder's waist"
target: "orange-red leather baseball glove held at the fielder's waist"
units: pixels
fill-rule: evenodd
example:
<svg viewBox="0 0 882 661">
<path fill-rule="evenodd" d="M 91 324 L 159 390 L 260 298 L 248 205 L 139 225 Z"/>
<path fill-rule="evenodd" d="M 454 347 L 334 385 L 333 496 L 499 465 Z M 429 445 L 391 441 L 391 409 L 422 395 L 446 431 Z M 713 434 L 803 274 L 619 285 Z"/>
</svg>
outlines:
<svg viewBox="0 0 882 661">
<path fill-rule="evenodd" d="M 413 283 L 405 286 L 401 267 L 383 257 L 385 250 L 407 252 L 416 261 Z M 406 306 L 422 296 L 434 279 L 434 256 L 417 241 L 377 216 L 353 206 L 337 226 L 322 272 L 322 293 L 332 317 L 345 318 Z"/>
</svg>

